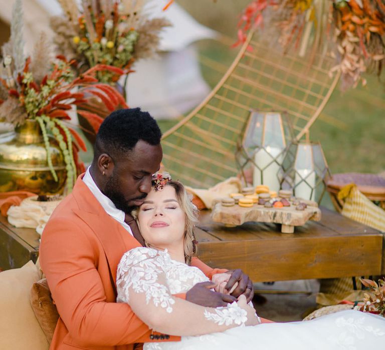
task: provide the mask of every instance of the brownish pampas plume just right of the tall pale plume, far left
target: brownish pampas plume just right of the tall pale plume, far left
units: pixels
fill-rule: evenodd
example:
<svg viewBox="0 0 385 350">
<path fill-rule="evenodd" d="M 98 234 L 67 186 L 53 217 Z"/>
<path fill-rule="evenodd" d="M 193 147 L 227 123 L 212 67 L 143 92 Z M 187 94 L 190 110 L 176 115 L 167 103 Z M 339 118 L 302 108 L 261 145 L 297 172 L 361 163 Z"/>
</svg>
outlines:
<svg viewBox="0 0 385 350">
<path fill-rule="evenodd" d="M 31 61 L 31 73 L 36 83 L 40 84 L 44 76 L 47 75 L 51 68 L 52 49 L 51 42 L 47 34 L 42 32 L 40 39 L 34 47 L 34 54 Z"/>
</svg>

